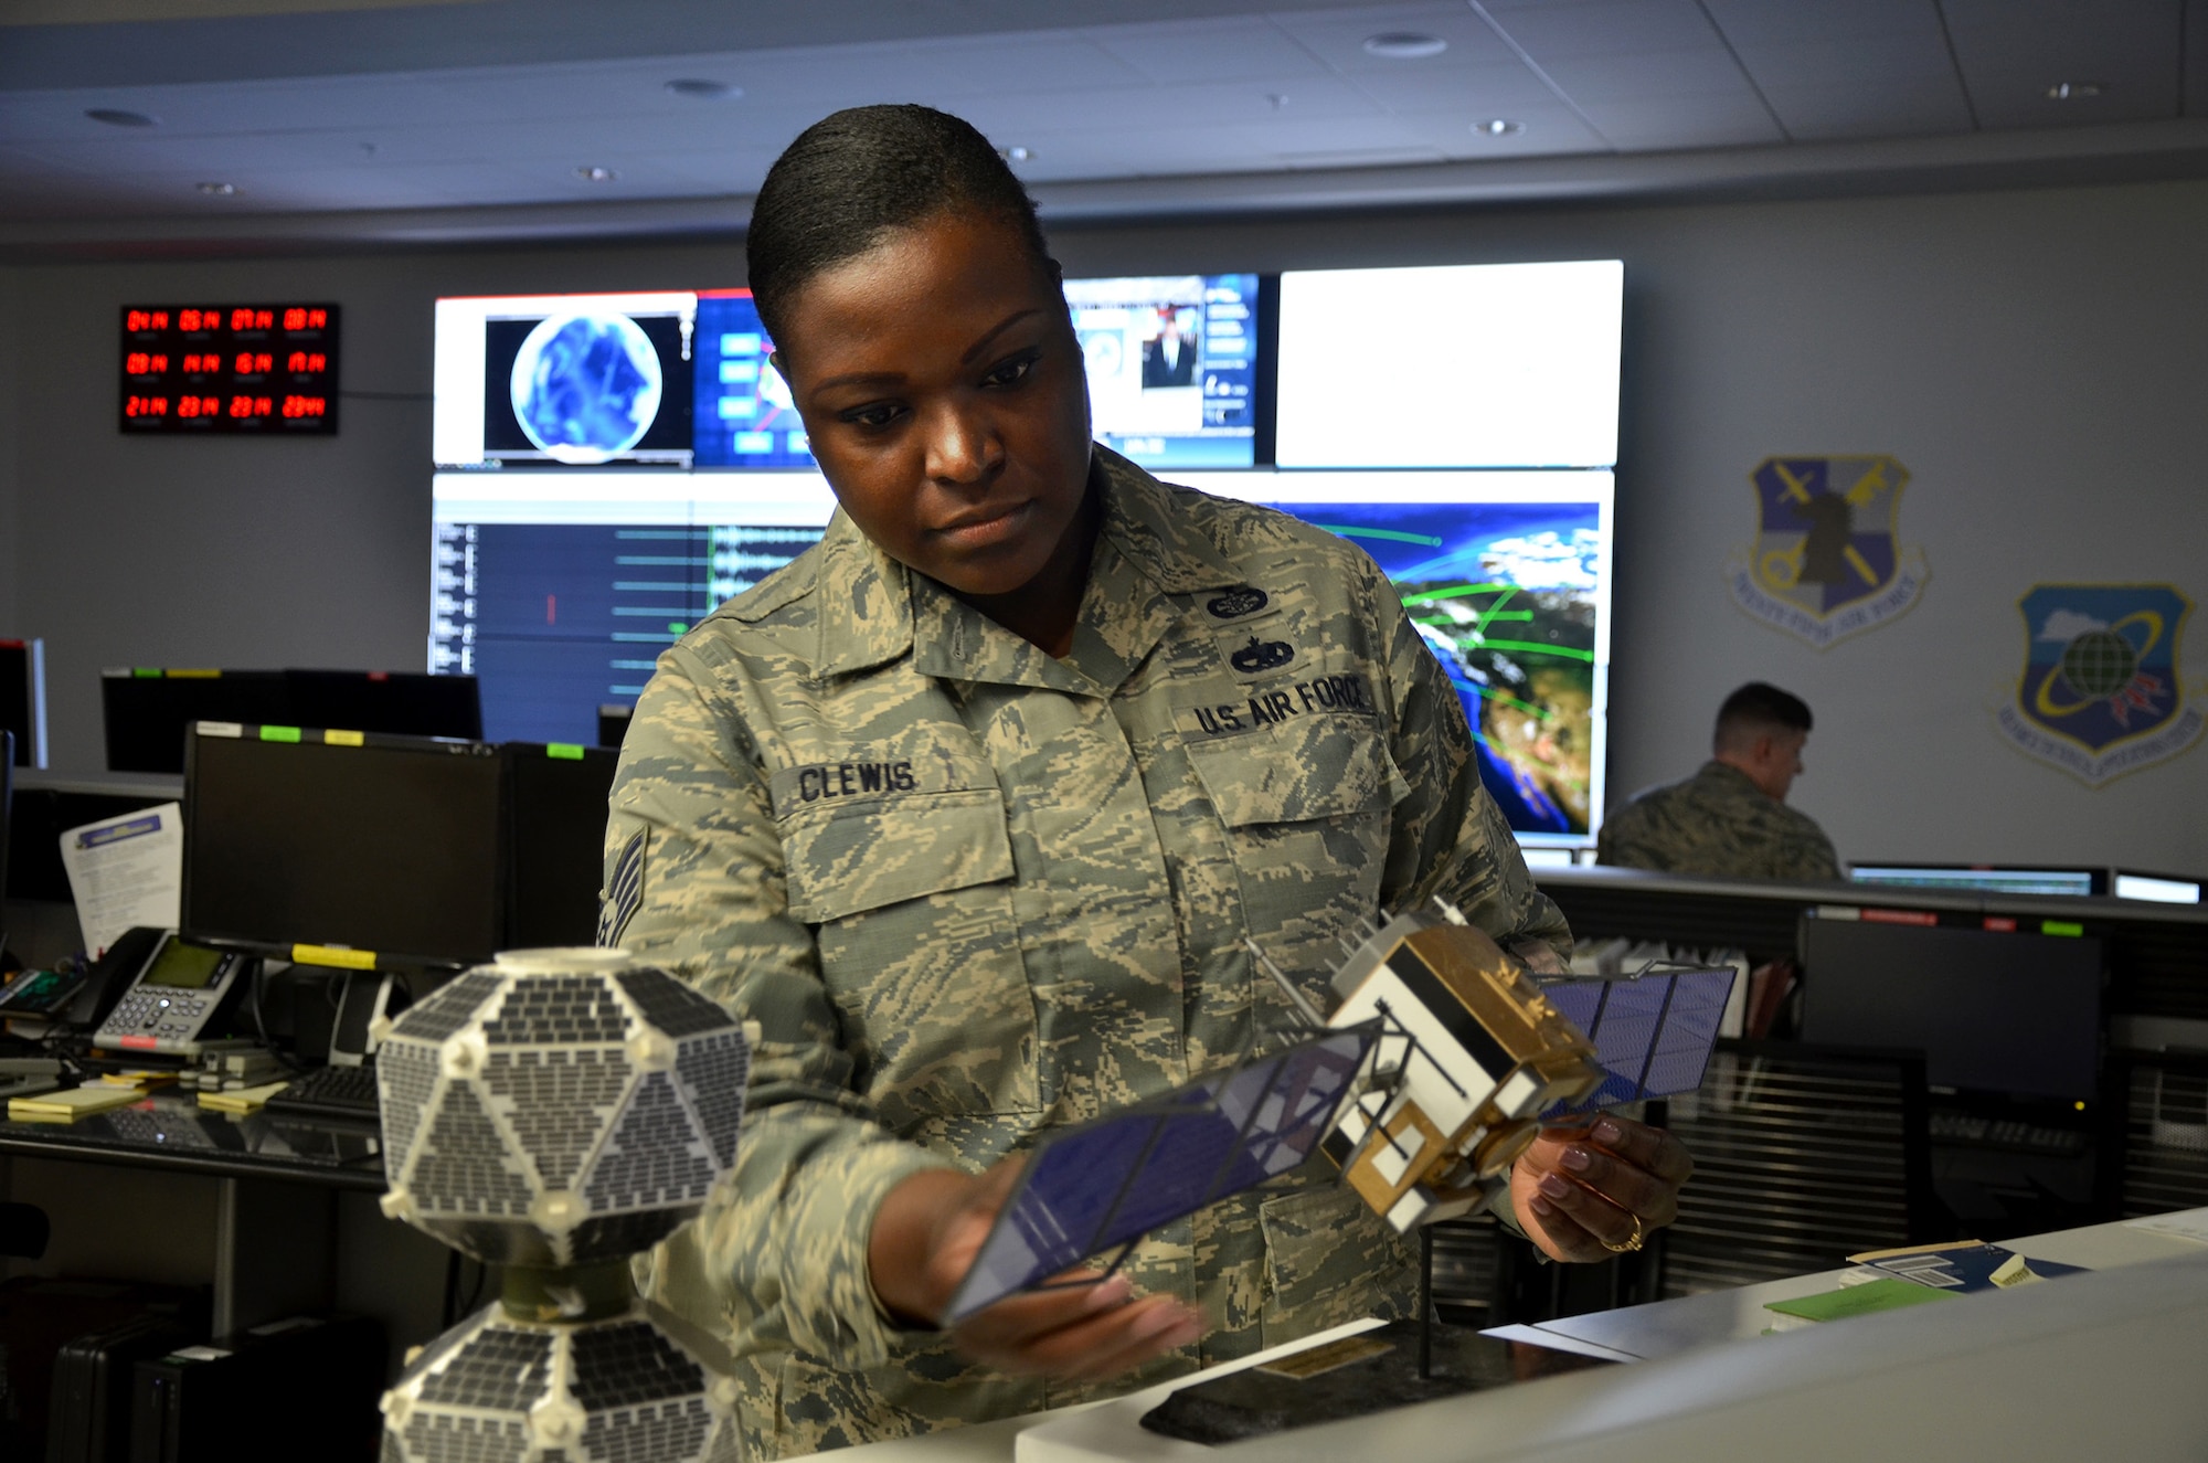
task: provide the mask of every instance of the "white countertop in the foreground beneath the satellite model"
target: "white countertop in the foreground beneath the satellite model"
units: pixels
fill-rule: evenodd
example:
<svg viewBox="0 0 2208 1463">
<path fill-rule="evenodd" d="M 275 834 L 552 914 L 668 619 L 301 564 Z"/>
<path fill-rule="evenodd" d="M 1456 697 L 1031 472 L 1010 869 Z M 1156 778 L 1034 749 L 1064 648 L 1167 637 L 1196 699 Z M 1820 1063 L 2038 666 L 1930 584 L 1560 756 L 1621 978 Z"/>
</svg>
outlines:
<svg viewBox="0 0 2208 1463">
<path fill-rule="evenodd" d="M 2208 1213 L 2208 1211 L 2204 1211 Z M 2009 1240 L 2093 1266 L 2003 1295 L 1764 1337 L 1769 1299 L 1841 1271 L 1548 1322 L 1636 1366 L 1307 1428 L 1232 1448 L 1142 1432 L 1179 1383 L 1080 1410 L 852 1448 L 848 1463 L 1788 1463 L 1868 1456 L 2208 1456 L 2208 1244 L 2124 1224 Z M 2073 1288 L 2076 1286 L 2076 1288 Z M 1638 1348 L 1638 1350 L 1636 1350 Z"/>
</svg>

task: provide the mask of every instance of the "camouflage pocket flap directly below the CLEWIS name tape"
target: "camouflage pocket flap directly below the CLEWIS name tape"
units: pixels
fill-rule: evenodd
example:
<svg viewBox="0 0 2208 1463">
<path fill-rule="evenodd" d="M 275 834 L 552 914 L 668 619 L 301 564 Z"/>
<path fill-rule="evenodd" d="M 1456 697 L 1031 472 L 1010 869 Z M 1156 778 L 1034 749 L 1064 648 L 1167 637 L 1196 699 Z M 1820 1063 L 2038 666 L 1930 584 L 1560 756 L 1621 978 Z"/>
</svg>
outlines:
<svg viewBox="0 0 2208 1463">
<path fill-rule="evenodd" d="M 790 915 L 826 924 L 1011 877 L 1005 798 L 985 765 L 956 787 L 802 807 L 779 820 Z"/>
</svg>

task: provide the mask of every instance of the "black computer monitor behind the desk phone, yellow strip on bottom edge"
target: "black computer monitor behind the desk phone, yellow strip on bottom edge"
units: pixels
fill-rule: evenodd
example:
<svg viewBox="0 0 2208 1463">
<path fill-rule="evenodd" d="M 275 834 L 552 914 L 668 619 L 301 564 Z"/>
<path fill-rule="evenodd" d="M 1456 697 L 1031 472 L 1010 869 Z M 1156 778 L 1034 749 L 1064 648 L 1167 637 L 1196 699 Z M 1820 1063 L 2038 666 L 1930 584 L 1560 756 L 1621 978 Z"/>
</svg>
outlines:
<svg viewBox="0 0 2208 1463">
<path fill-rule="evenodd" d="M 194 727 L 183 928 L 479 961 L 503 926 L 495 747 L 291 727 Z"/>
</svg>

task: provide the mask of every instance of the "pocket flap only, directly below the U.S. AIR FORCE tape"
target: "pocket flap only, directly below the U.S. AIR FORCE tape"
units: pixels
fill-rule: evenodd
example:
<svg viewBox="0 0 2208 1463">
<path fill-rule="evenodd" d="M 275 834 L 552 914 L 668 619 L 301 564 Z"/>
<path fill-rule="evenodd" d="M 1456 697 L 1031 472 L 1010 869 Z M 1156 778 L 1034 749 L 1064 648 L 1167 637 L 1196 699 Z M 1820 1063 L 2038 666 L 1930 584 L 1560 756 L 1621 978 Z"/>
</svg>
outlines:
<svg viewBox="0 0 2208 1463">
<path fill-rule="evenodd" d="M 1254 736 L 1192 743 L 1188 758 L 1230 829 L 1376 813 L 1411 796 L 1367 716 L 1305 716 Z"/>
</svg>

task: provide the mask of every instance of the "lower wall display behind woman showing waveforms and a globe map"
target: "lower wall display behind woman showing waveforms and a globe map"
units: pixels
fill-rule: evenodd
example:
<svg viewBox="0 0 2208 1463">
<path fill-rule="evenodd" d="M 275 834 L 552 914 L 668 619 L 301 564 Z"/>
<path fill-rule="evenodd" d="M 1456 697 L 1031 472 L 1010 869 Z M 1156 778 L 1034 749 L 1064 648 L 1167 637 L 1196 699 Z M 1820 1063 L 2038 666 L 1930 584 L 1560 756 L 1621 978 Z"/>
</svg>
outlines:
<svg viewBox="0 0 2208 1463">
<path fill-rule="evenodd" d="M 1464 701 L 1526 842 L 1603 807 L 1612 475 L 1175 473 L 1365 548 Z M 492 740 L 592 743 L 660 650 L 815 544 L 819 473 L 439 473 L 431 667 L 473 674 Z"/>
</svg>

